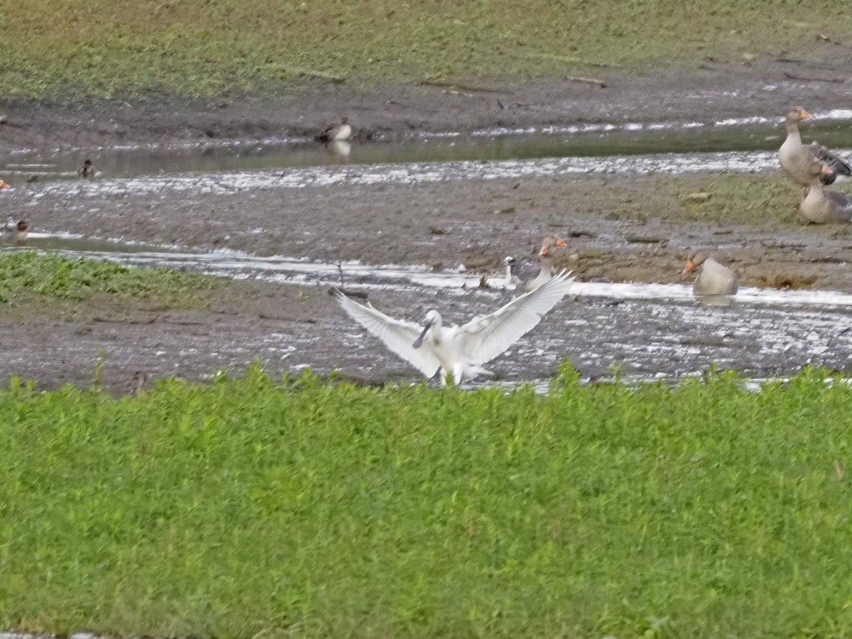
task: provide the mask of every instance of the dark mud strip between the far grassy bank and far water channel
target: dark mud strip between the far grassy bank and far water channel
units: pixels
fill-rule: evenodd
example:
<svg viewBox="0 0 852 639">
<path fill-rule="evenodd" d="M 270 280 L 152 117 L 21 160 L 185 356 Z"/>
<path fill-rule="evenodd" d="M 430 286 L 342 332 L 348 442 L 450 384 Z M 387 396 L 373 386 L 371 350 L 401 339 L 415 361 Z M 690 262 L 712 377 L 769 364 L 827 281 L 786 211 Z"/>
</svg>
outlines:
<svg viewBox="0 0 852 639">
<path fill-rule="evenodd" d="M 792 105 L 848 108 L 852 48 L 831 56 L 776 57 L 660 69 L 640 74 L 596 70 L 605 86 L 565 78 L 523 85 L 419 83 L 360 88 L 302 83 L 263 95 L 186 99 L 125 96 L 112 101 L 0 98 L 0 153 L 118 145 L 282 141 L 311 137 L 343 115 L 358 141 L 402 140 L 423 133 L 625 122 L 713 123 L 781 116 Z M 589 75 L 585 73 L 584 75 Z M 589 79 L 589 78 L 586 78 Z"/>
</svg>

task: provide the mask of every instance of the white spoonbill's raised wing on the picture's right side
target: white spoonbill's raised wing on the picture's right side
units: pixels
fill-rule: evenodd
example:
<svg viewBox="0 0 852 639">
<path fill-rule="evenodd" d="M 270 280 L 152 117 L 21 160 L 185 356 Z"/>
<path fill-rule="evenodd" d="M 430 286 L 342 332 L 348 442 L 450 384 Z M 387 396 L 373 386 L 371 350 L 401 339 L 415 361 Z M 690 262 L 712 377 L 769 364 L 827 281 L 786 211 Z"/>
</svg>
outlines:
<svg viewBox="0 0 852 639">
<path fill-rule="evenodd" d="M 490 315 L 475 317 L 459 329 L 471 364 L 493 360 L 538 325 L 573 286 L 571 273 L 562 271 L 537 289 L 515 297 Z"/>
</svg>

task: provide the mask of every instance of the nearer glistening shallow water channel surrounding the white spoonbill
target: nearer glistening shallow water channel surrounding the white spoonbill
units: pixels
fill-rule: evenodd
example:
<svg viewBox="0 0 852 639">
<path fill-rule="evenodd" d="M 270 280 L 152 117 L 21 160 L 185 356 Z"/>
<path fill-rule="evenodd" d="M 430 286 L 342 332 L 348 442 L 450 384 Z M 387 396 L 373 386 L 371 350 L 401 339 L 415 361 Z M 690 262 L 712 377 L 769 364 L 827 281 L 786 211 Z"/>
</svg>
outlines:
<svg viewBox="0 0 852 639">
<path fill-rule="evenodd" d="M 317 285 L 321 294 L 330 285 L 340 285 L 343 272 L 348 290 L 365 291 L 383 312 L 415 321 L 428 308 L 438 308 L 446 321 L 463 323 L 476 314 L 491 313 L 512 297 L 503 290 L 498 273 L 491 287 L 480 288 L 478 276 L 417 266 L 154 250 L 68 236 L 36 235 L 31 245 L 65 256 Z M 697 300 L 688 285 L 599 282 L 578 283 L 574 293 L 573 300 L 558 305 L 492 368 L 504 378 L 541 380 L 565 357 L 587 377 L 612 377 L 618 366 L 635 379 L 676 379 L 712 365 L 754 377 L 791 374 L 805 364 L 836 370 L 852 366 L 852 295 L 745 287 L 720 304 Z M 336 307 L 330 306 L 330 313 L 300 328 L 297 336 L 275 337 L 268 344 L 270 354 L 279 356 L 286 348 L 288 366 L 296 369 L 340 368 L 373 378 L 416 378 Z M 342 331 L 341 325 L 348 328 Z"/>
</svg>

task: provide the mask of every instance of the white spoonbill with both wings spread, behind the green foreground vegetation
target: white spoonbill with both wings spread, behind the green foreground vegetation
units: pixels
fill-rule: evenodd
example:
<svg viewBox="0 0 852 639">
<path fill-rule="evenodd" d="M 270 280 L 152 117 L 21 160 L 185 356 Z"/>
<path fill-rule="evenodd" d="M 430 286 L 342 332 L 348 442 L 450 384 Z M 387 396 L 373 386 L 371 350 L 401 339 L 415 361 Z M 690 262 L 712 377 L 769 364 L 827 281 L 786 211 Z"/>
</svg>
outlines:
<svg viewBox="0 0 852 639">
<path fill-rule="evenodd" d="M 440 369 L 441 383 L 447 377 L 462 383 L 479 375 L 494 373 L 481 365 L 493 360 L 528 331 L 545 313 L 555 307 L 573 285 L 571 273 L 562 272 L 534 291 L 514 300 L 490 315 L 475 317 L 461 326 L 445 326 L 438 311 L 426 314 L 425 325 L 394 320 L 371 304 L 359 304 L 340 291 L 334 291 L 349 317 L 378 337 L 385 346 L 431 378 Z"/>
</svg>

